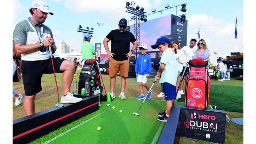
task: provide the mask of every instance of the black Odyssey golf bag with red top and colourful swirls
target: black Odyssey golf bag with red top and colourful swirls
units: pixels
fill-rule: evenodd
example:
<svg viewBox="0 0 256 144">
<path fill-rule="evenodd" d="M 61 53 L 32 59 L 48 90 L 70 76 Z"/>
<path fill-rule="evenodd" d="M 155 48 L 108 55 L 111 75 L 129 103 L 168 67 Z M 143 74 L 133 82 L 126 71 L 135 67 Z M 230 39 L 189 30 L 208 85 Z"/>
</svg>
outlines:
<svg viewBox="0 0 256 144">
<path fill-rule="evenodd" d="M 78 82 L 79 94 L 81 94 L 81 89 L 85 88 L 85 82 L 89 82 L 89 95 L 94 95 L 94 91 L 99 89 L 100 94 L 102 94 L 103 87 L 100 84 L 100 72 L 96 61 L 95 59 L 90 59 L 84 62 Z"/>
</svg>

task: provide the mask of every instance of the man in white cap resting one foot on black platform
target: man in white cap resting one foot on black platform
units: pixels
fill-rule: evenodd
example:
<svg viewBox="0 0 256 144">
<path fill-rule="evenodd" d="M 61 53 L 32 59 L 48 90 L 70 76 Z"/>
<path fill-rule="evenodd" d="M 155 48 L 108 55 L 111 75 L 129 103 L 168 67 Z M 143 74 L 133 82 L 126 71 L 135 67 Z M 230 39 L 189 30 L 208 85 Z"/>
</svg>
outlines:
<svg viewBox="0 0 256 144">
<path fill-rule="evenodd" d="M 35 113 L 36 94 L 42 91 L 41 78 L 43 74 L 52 74 L 52 61 L 49 46 L 52 53 L 56 51 L 56 45 L 52 37 L 52 31 L 43 23 L 49 11 L 48 4 L 36 0 L 29 9 L 31 18 L 18 23 L 13 31 L 14 47 L 21 54 L 23 85 L 25 98 L 23 107 L 26 115 Z M 63 95 L 60 103 L 76 103 L 82 98 L 76 98 L 70 94 L 70 86 L 74 76 L 75 63 L 71 60 L 53 58 L 54 69 L 57 73 L 63 73 Z"/>
</svg>

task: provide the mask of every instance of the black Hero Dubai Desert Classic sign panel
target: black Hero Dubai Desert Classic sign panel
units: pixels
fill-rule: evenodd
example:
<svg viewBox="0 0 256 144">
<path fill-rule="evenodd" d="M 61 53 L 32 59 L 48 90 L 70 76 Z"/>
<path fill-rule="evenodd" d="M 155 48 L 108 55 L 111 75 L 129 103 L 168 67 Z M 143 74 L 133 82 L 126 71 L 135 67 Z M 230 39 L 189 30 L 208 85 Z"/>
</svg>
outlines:
<svg viewBox="0 0 256 144">
<path fill-rule="evenodd" d="M 225 142 L 226 113 L 210 109 L 181 108 L 180 136 L 214 143 Z"/>
</svg>

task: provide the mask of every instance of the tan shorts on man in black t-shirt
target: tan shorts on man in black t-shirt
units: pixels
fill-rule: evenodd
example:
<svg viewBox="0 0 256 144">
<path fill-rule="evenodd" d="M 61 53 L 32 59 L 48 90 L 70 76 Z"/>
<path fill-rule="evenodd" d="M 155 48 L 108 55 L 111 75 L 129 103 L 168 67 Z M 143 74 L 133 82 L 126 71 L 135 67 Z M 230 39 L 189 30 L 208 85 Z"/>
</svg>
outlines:
<svg viewBox="0 0 256 144">
<path fill-rule="evenodd" d="M 120 75 L 123 77 L 128 77 L 130 67 L 130 60 L 117 61 L 112 57 L 109 59 L 109 77 L 117 76 L 118 71 L 120 70 Z"/>
</svg>

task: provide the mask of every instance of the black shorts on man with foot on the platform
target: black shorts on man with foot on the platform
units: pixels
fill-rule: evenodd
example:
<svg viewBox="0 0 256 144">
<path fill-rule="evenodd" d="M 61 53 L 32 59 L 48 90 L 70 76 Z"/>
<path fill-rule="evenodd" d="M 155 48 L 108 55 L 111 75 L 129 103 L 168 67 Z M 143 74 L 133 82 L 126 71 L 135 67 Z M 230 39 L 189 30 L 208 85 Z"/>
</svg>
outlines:
<svg viewBox="0 0 256 144">
<path fill-rule="evenodd" d="M 63 73 L 60 71 L 60 65 L 65 59 L 59 57 L 53 58 L 53 65 L 55 73 Z M 22 60 L 21 73 L 26 96 L 35 95 L 42 91 L 41 78 L 43 74 L 53 74 L 52 60 L 36 60 L 25 61 Z M 52 78 L 54 81 L 54 78 Z"/>
</svg>

